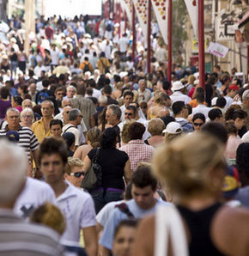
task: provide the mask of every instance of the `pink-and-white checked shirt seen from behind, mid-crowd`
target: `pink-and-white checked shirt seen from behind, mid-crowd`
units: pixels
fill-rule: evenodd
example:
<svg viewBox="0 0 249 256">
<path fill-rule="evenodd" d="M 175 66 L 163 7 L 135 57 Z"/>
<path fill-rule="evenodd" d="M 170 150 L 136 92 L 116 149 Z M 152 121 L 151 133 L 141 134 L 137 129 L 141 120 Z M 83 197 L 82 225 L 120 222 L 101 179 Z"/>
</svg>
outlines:
<svg viewBox="0 0 249 256">
<path fill-rule="evenodd" d="M 152 146 L 143 143 L 140 139 L 131 140 L 119 149 L 129 155 L 132 172 L 135 171 L 138 162 L 150 162 L 155 151 Z"/>
</svg>

